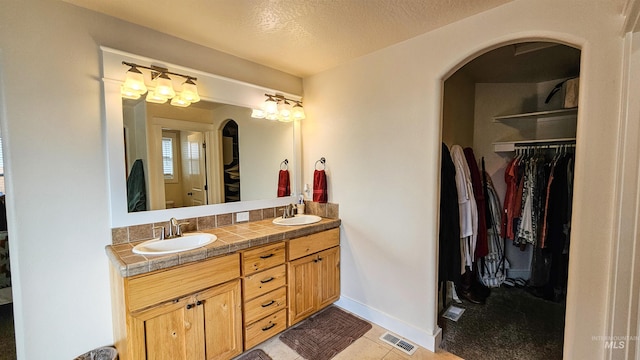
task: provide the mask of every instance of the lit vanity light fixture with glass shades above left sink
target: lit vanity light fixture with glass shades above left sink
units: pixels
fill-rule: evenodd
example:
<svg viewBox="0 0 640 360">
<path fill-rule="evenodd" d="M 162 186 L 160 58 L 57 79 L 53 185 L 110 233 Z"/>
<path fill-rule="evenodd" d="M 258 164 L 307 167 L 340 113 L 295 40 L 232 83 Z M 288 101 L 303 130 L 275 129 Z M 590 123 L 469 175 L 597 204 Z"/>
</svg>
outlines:
<svg viewBox="0 0 640 360">
<path fill-rule="evenodd" d="M 149 67 L 126 61 L 123 61 L 122 64 L 130 67 L 120 89 L 123 98 L 139 99 L 140 96 L 147 93 L 145 97 L 147 102 L 164 104 L 171 99 L 171 105 L 179 107 L 187 107 L 192 103 L 200 101 L 198 87 L 195 83 L 198 79 L 193 76 L 170 72 L 167 68 L 155 65 Z M 144 82 L 144 74 L 140 69 L 150 71 L 151 81 L 154 84 L 153 87 L 147 88 Z M 176 93 L 173 89 L 173 82 L 169 75 L 180 76 L 186 79 L 179 93 Z"/>
</svg>

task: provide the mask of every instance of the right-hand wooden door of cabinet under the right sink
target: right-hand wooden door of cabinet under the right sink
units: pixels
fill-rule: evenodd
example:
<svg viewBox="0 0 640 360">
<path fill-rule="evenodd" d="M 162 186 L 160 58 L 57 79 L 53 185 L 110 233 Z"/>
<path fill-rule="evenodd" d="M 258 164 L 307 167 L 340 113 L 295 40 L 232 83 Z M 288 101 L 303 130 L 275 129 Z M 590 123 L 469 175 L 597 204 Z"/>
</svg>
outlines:
<svg viewBox="0 0 640 360">
<path fill-rule="evenodd" d="M 316 310 L 329 306 L 340 297 L 340 247 L 318 253 L 318 295 Z"/>
</svg>

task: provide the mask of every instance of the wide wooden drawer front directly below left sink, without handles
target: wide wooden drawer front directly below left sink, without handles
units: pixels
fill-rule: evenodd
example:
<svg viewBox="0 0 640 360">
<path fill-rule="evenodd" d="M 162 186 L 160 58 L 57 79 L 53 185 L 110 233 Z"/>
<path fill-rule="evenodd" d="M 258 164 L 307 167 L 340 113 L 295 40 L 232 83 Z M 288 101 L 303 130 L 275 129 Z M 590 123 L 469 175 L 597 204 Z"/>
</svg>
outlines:
<svg viewBox="0 0 640 360">
<path fill-rule="evenodd" d="M 125 279 L 129 311 L 173 300 L 240 277 L 240 256 L 226 255 Z"/>
</svg>

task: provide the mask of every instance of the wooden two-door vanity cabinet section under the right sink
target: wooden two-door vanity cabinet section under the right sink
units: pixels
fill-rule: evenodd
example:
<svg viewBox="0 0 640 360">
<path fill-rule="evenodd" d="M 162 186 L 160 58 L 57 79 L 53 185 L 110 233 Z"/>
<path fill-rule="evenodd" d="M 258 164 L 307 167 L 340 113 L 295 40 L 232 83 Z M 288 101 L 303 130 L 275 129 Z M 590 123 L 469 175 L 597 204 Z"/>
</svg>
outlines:
<svg viewBox="0 0 640 360">
<path fill-rule="evenodd" d="M 340 297 L 339 245 L 337 228 L 288 241 L 289 326 Z"/>
</svg>

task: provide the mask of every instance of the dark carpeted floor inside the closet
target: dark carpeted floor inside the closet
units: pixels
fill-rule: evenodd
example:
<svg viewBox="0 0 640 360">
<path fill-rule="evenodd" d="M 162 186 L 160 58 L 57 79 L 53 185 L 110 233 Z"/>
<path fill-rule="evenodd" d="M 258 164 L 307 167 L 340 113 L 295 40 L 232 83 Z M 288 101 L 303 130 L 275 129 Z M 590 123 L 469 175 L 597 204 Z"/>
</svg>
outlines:
<svg viewBox="0 0 640 360">
<path fill-rule="evenodd" d="M 495 288 L 486 304 L 454 304 L 465 312 L 441 319 L 441 347 L 466 360 L 562 359 L 565 304 L 524 288 Z"/>
</svg>

